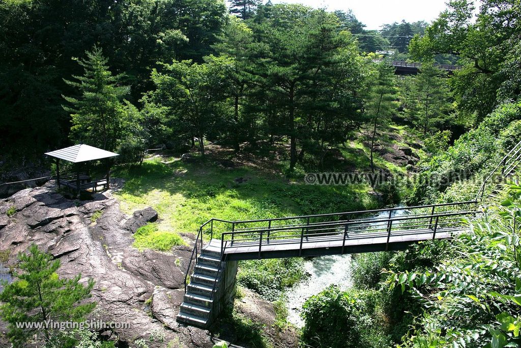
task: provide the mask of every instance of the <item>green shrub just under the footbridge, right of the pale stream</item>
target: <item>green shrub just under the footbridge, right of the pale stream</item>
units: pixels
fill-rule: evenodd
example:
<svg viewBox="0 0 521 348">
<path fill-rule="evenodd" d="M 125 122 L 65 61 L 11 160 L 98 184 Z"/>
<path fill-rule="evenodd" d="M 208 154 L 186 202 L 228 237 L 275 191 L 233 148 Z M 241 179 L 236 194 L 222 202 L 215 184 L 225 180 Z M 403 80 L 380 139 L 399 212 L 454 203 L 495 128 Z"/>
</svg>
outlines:
<svg viewBox="0 0 521 348">
<path fill-rule="evenodd" d="M 357 289 L 377 289 L 382 268 L 388 268 L 392 253 L 365 253 L 353 256 L 351 279 Z"/>
</svg>

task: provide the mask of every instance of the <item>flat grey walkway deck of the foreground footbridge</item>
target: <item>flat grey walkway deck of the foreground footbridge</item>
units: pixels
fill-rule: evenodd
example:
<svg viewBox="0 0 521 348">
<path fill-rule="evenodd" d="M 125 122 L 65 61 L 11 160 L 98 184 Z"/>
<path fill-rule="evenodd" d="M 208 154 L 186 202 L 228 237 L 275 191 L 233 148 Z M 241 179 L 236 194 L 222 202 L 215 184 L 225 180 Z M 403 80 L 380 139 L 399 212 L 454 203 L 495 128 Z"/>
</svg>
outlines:
<svg viewBox="0 0 521 348">
<path fill-rule="evenodd" d="M 266 258 L 283 258 L 298 256 L 323 256 L 335 254 L 369 253 L 385 250 L 405 249 L 412 243 L 432 239 L 450 238 L 462 228 L 452 227 L 440 229 L 433 235 L 431 229 L 392 231 L 376 233 L 349 233 L 344 241 L 342 234 L 304 236 L 301 238 L 284 238 L 271 241 L 258 242 L 232 242 L 225 241 L 226 248 L 221 249 L 221 240 L 212 239 L 207 248 L 213 251 L 224 251 L 223 260 L 250 260 Z"/>
</svg>

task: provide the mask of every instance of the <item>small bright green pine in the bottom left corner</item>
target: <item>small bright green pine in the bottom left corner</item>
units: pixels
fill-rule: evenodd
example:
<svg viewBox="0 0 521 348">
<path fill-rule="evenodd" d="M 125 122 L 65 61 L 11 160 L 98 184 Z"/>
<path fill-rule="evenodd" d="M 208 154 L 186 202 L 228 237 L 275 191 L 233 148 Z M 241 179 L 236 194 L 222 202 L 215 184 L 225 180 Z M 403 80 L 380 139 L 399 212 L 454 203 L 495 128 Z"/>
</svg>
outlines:
<svg viewBox="0 0 521 348">
<path fill-rule="evenodd" d="M 5 285 L 0 294 L 0 316 L 8 322 L 7 337 L 14 347 L 26 346 L 33 338 L 36 343 L 70 341 L 52 327 L 19 328 L 17 323 L 85 320 L 95 303 L 82 301 L 91 296 L 94 281 L 89 280 L 86 286 L 80 284 L 81 274 L 60 279 L 56 273 L 60 261 L 42 253 L 35 244 L 29 254 L 19 254 L 18 259 L 21 272 L 15 272 L 16 280 Z"/>
</svg>

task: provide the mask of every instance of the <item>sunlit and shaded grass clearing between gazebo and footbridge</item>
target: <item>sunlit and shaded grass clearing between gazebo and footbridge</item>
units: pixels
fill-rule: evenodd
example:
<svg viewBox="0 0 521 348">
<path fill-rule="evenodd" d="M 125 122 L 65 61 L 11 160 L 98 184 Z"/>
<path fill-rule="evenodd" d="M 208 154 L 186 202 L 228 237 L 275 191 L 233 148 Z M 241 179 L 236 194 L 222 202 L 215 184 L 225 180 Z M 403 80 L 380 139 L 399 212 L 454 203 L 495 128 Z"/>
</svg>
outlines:
<svg viewBox="0 0 521 348">
<path fill-rule="evenodd" d="M 292 215 L 375 208 L 367 185 L 313 186 L 303 178 L 290 183 L 281 176 L 250 167 L 225 170 L 209 159 L 194 163 L 147 160 L 141 167 L 120 167 L 115 176 L 126 179 L 116 195 L 131 213 L 152 206 L 158 229 L 195 232 L 211 218 L 266 219 Z M 235 178 L 245 178 L 237 183 Z"/>
</svg>

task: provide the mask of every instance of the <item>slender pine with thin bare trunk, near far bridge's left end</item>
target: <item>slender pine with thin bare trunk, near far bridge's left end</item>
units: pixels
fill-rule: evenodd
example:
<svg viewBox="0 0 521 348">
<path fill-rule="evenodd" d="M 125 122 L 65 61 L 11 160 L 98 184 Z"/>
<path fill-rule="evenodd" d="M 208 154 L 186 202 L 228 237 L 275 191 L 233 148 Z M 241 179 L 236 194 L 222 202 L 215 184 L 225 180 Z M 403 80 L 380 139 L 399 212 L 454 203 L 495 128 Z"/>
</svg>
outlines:
<svg viewBox="0 0 521 348">
<path fill-rule="evenodd" d="M 373 125 L 371 135 L 371 171 L 375 171 L 374 151 L 378 124 L 386 122 L 396 110 L 396 80 L 394 68 L 386 61 L 374 64 L 374 71 L 369 78 L 366 113 Z"/>
</svg>

